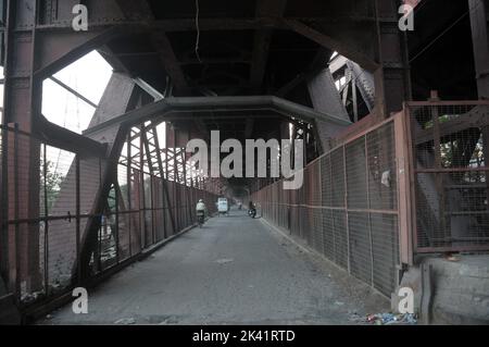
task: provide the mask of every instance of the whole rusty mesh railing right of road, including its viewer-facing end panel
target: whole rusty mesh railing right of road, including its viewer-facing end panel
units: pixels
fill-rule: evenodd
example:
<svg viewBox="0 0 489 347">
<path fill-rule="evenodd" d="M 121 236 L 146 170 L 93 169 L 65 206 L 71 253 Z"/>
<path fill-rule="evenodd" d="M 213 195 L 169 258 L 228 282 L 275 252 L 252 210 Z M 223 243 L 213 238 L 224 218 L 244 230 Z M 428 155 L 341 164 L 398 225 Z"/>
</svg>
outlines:
<svg viewBox="0 0 489 347">
<path fill-rule="evenodd" d="M 489 101 L 408 102 L 254 194 L 265 219 L 386 296 L 427 252 L 489 250 Z"/>
</svg>

